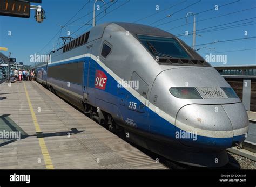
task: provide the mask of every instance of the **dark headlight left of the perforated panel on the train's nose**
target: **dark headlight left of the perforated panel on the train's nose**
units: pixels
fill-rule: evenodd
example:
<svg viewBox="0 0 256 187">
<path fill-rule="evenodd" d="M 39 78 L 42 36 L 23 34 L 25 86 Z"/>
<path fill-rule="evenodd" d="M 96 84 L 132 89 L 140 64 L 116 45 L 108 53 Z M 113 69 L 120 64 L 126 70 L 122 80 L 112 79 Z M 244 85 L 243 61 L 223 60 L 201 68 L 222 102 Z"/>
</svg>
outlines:
<svg viewBox="0 0 256 187">
<path fill-rule="evenodd" d="M 202 97 L 194 87 L 171 87 L 169 91 L 174 97 L 180 99 L 201 99 Z"/>
</svg>

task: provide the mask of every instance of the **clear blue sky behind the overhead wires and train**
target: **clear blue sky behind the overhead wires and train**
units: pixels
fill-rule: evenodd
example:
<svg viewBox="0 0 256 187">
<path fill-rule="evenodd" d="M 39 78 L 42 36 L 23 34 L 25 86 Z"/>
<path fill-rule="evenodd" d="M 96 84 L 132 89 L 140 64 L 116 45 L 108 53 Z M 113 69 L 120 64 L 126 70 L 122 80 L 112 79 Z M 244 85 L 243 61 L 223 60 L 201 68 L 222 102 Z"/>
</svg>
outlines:
<svg viewBox="0 0 256 187">
<path fill-rule="evenodd" d="M 185 31 L 192 31 L 193 25 L 186 24 L 186 19 L 179 19 L 177 21 L 172 21 L 178 18 L 183 18 L 186 16 L 187 12 L 203 12 L 208 9 L 213 9 L 214 5 L 224 5 L 231 2 L 235 2 L 237 0 L 202 0 L 201 2 L 186 8 L 193 3 L 198 2 L 199 0 L 187 0 L 184 3 L 181 3 L 185 0 L 130 0 L 125 5 L 116 9 L 118 6 L 122 5 L 126 0 L 119 0 L 115 4 L 113 4 L 106 12 L 110 12 L 114 9 L 114 11 L 107 14 L 102 19 L 98 20 L 104 14 L 102 13 L 96 18 L 96 24 L 105 23 L 108 21 L 124 21 L 124 22 L 134 22 L 140 18 L 144 18 L 146 16 L 152 15 L 156 13 L 156 15 L 151 16 L 149 18 L 138 21 L 138 23 L 149 25 L 161 18 L 165 18 L 167 15 L 174 13 L 171 17 L 165 18 L 163 20 L 157 21 L 151 26 L 157 26 L 163 30 L 168 30 L 168 32 L 176 35 L 176 34 L 184 34 Z M 75 13 L 82 8 L 82 6 L 87 2 L 87 0 L 42 0 L 42 8 L 46 12 L 46 19 L 43 23 L 37 23 L 33 18 L 35 13 L 34 10 L 31 10 L 31 17 L 29 19 L 26 18 L 15 18 L 15 17 L 6 17 L 0 16 L 0 46 L 8 47 L 9 51 L 12 52 L 12 57 L 17 58 L 17 62 L 24 62 L 25 64 L 30 64 L 30 55 L 34 53 L 38 53 L 41 49 L 48 44 L 48 42 L 52 39 L 52 37 L 60 30 L 60 25 L 65 25 L 70 18 L 72 18 Z M 76 20 L 79 17 L 86 15 L 91 12 L 93 9 L 93 0 L 90 1 L 89 4 L 85 6 L 85 8 L 78 13 L 78 15 L 72 20 Z M 105 2 L 109 2 L 109 0 L 105 0 Z M 178 4 L 180 3 L 180 4 Z M 35 3 L 32 3 L 35 5 Z M 98 3 L 102 5 L 102 3 Z M 157 13 L 161 10 L 169 8 L 172 5 L 178 4 L 173 8 Z M 111 5 L 111 3 L 107 4 L 107 7 Z M 159 10 L 156 10 L 156 6 L 159 6 Z M 201 36 L 196 37 L 196 45 L 211 43 L 214 41 L 223 41 L 223 40 L 232 40 L 245 38 L 245 31 L 248 32 L 247 37 L 255 37 L 256 36 L 256 1 L 255 0 L 240 0 L 237 3 L 233 3 L 230 5 L 226 5 L 220 7 L 218 11 L 211 10 L 204 13 L 199 13 L 196 15 L 197 22 L 197 30 L 198 34 Z M 184 9 L 186 8 L 186 9 Z M 250 9 L 252 8 L 252 9 Z M 184 9 L 184 10 L 181 10 Z M 250 9 L 246 11 L 241 11 L 244 9 Z M 96 12 L 98 15 L 103 9 L 100 9 Z M 179 11 L 181 10 L 181 11 Z M 227 13 L 232 13 L 240 11 L 237 13 L 233 13 L 227 16 Z M 221 17 L 218 17 L 221 16 Z M 207 18 L 217 17 L 214 19 L 208 19 L 205 21 L 200 21 Z M 250 19 L 252 18 L 252 19 Z M 87 23 L 87 21 L 92 19 L 92 13 L 90 15 L 85 16 L 84 18 L 76 21 L 75 23 L 67 26 L 68 30 L 71 32 L 76 31 L 82 24 Z M 248 20 L 244 20 L 248 19 Z M 240 21 L 244 20 L 244 21 Z M 172 21 L 170 23 L 160 25 L 166 23 L 167 21 Z M 192 17 L 188 18 L 188 23 L 193 21 Z M 234 25 L 235 28 L 213 31 L 213 32 L 203 32 L 199 33 L 203 28 L 208 28 L 207 30 L 216 29 L 219 27 L 215 27 L 217 25 L 227 24 L 234 21 L 240 21 L 237 23 L 223 25 L 219 27 L 229 28 Z M 71 21 L 72 22 L 72 21 Z M 250 23 L 246 23 L 250 22 Z M 91 21 L 90 21 L 91 23 Z M 242 24 L 246 23 L 246 24 Z M 240 24 L 240 25 L 237 25 Z M 181 27 L 178 27 L 183 25 Z M 239 26 L 239 27 L 238 27 Z M 177 28 L 174 28 L 177 27 Z M 84 26 L 80 29 L 76 34 L 82 34 L 84 31 L 89 29 L 90 26 Z M 174 29 L 171 29 L 174 28 Z M 170 30 L 171 29 L 171 30 Z M 8 31 L 11 31 L 11 36 L 8 35 Z M 62 30 L 61 34 L 58 33 L 55 39 L 53 39 L 50 44 L 48 44 L 41 53 L 46 53 L 53 48 L 54 43 L 58 44 L 59 36 L 66 35 L 66 30 Z M 192 35 L 181 36 L 180 39 L 184 40 L 188 45 L 192 45 Z M 60 41 L 60 40 L 59 40 Z M 203 57 L 205 55 L 212 54 L 220 54 L 227 55 L 227 64 L 235 65 L 235 64 L 256 64 L 256 39 L 247 39 L 247 40 L 238 40 L 231 42 L 223 42 L 217 44 L 208 44 L 202 46 L 196 46 L 196 49 L 200 48 L 198 51 Z M 253 49 L 254 48 L 254 49 Z M 247 51 L 237 51 L 244 49 L 253 49 Z M 235 52 L 226 52 L 226 51 L 235 51 Z M 3 51 L 2 51 L 3 52 Z M 219 52 L 219 53 L 214 53 Z M 3 52 L 8 55 L 8 52 Z M 214 66 L 220 66 L 222 63 L 212 63 Z"/>
</svg>

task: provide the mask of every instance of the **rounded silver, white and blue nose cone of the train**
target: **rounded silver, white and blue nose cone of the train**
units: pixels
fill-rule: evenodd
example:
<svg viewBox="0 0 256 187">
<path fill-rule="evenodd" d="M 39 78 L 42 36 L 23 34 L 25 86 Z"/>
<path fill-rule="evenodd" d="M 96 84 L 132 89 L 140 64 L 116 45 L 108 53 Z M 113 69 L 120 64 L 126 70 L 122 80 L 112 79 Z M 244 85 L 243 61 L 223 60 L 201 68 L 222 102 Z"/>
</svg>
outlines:
<svg viewBox="0 0 256 187">
<path fill-rule="evenodd" d="M 190 104 L 176 117 L 176 138 L 186 146 L 225 149 L 245 140 L 248 117 L 241 103 Z"/>
</svg>

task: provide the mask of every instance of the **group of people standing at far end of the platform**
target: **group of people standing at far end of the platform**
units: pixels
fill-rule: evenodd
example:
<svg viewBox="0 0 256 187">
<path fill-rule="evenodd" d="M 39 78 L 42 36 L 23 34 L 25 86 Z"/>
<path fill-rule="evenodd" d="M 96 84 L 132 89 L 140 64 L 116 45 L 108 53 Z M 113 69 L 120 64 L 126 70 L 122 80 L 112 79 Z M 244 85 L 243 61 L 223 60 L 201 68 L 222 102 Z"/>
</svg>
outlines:
<svg viewBox="0 0 256 187">
<path fill-rule="evenodd" d="M 33 81 L 35 78 L 35 72 L 33 70 L 25 69 L 13 69 L 11 72 L 11 83 L 16 81 Z"/>
</svg>

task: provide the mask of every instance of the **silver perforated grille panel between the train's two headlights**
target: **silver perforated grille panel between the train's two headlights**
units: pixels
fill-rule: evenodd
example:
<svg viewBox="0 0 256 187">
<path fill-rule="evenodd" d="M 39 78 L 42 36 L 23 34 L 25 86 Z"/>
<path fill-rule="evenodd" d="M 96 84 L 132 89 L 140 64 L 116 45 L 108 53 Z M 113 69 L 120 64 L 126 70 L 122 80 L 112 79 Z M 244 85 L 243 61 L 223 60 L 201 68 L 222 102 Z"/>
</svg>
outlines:
<svg viewBox="0 0 256 187">
<path fill-rule="evenodd" d="M 221 88 L 197 88 L 205 99 L 215 99 L 215 98 L 227 98 L 226 94 Z"/>
</svg>

